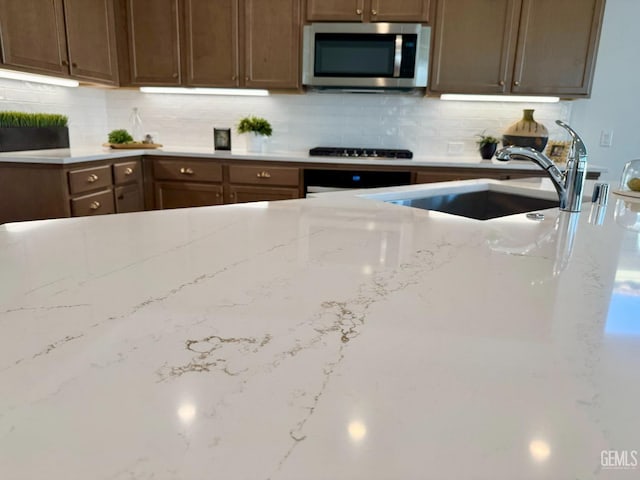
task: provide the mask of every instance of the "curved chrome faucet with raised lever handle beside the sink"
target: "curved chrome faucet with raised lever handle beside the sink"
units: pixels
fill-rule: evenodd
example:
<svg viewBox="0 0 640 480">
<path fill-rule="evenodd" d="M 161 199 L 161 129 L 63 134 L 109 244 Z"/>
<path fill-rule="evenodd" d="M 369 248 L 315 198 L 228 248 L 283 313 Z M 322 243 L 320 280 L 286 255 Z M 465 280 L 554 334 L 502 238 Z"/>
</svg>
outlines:
<svg viewBox="0 0 640 480">
<path fill-rule="evenodd" d="M 582 191 L 587 176 L 587 147 L 569 125 L 561 120 L 556 120 L 556 123 L 567 130 L 572 139 L 567 157 L 567 168 L 564 172 L 561 172 L 553 160 L 544 153 L 531 147 L 502 148 L 496 153 L 496 159 L 507 161 L 513 158 L 523 158 L 537 163 L 551 177 L 560 199 L 560 210 L 579 212 L 582 207 Z"/>
</svg>

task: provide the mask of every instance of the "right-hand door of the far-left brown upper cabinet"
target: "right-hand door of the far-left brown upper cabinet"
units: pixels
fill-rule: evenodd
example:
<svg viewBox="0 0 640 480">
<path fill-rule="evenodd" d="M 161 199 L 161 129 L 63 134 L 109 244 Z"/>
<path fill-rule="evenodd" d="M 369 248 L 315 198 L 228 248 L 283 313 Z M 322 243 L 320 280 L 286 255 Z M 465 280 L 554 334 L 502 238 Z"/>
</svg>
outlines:
<svg viewBox="0 0 640 480">
<path fill-rule="evenodd" d="M 64 0 L 71 75 L 117 84 L 118 64 L 112 0 Z"/>
</svg>

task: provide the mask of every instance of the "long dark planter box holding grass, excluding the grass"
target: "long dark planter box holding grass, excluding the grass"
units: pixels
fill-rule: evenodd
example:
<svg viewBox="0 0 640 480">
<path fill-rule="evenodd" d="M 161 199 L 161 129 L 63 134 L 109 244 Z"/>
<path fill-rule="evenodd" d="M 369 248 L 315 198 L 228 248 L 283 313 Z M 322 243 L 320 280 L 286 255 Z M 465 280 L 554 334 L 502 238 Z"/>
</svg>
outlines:
<svg viewBox="0 0 640 480">
<path fill-rule="evenodd" d="M 69 148 L 67 127 L 2 127 L 0 152 Z"/>
</svg>

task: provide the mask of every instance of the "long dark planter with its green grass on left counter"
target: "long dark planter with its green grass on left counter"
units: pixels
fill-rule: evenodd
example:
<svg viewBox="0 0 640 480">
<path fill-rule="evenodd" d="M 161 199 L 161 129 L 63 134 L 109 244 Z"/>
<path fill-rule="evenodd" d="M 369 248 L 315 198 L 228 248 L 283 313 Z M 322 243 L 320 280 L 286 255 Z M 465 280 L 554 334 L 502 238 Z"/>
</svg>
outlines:
<svg viewBox="0 0 640 480">
<path fill-rule="evenodd" d="M 69 148 L 67 125 L 65 115 L 0 112 L 0 152 Z"/>
</svg>

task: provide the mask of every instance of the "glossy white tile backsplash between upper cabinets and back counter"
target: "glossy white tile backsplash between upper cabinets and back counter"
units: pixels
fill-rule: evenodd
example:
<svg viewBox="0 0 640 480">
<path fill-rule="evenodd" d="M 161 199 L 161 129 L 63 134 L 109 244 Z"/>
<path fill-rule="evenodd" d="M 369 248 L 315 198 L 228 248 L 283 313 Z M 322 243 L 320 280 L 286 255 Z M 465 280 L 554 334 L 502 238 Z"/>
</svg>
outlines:
<svg viewBox="0 0 640 480">
<path fill-rule="evenodd" d="M 104 143 L 109 131 L 130 129 L 138 107 L 144 129 L 157 132 L 169 147 L 213 149 L 213 128 L 232 128 L 232 147 L 244 150 L 235 125 L 245 115 L 268 119 L 274 130 L 271 152 L 306 152 L 319 145 L 408 148 L 427 158 L 447 155 L 450 142 L 462 142 L 461 155 L 476 155 L 474 137 L 500 136 L 534 108 L 550 138 L 566 140 L 556 119 L 569 121 L 571 102 L 557 104 L 444 102 L 437 98 L 378 94 L 275 94 L 220 97 L 143 94 L 137 90 L 65 88 L 0 80 L 0 109 L 63 113 L 69 116 L 74 146 Z"/>
</svg>

